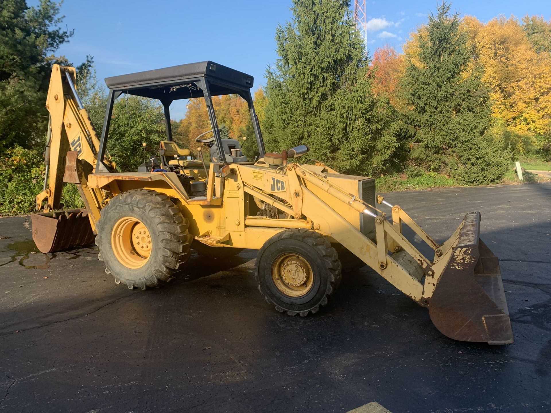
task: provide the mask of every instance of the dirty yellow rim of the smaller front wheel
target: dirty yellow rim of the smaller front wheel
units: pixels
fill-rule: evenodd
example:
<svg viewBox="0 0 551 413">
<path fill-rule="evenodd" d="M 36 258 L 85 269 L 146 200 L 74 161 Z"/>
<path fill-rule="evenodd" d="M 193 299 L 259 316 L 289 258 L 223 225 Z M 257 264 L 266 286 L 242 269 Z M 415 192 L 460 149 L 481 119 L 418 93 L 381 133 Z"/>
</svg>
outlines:
<svg viewBox="0 0 551 413">
<path fill-rule="evenodd" d="M 272 279 L 283 294 L 290 297 L 301 297 L 312 289 L 314 271 L 301 256 L 283 254 L 272 265 Z"/>
</svg>

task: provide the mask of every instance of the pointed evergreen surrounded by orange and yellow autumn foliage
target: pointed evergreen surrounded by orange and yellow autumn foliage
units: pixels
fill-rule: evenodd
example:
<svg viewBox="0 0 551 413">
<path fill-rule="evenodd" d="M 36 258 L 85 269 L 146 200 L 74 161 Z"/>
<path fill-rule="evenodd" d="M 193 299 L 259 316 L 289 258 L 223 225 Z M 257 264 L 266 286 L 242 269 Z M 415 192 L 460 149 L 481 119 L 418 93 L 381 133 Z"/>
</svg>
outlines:
<svg viewBox="0 0 551 413">
<path fill-rule="evenodd" d="M 411 158 L 429 170 L 449 170 L 463 183 L 490 183 L 507 169 L 500 148 L 485 137 L 491 102 L 482 70 L 472 64 L 466 32 L 443 2 L 419 29 L 401 79 L 404 132 Z"/>
</svg>

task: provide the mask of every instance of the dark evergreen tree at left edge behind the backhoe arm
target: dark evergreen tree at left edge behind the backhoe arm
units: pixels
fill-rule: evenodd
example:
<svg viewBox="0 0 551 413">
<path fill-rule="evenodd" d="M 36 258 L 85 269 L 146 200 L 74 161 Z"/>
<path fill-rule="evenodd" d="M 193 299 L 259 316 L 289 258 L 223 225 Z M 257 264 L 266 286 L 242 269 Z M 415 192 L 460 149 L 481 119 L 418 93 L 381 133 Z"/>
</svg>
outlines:
<svg viewBox="0 0 551 413">
<path fill-rule="evenodd" d="M 52 56 L 73 32 L 58 27 L 60 3 L 41 0 L 28 7 L 25 0 L 3 0 L 0 6 L 0 151 L 14 144 L 33 143 L 46 131 L 44 107 Z"/>
</svg>

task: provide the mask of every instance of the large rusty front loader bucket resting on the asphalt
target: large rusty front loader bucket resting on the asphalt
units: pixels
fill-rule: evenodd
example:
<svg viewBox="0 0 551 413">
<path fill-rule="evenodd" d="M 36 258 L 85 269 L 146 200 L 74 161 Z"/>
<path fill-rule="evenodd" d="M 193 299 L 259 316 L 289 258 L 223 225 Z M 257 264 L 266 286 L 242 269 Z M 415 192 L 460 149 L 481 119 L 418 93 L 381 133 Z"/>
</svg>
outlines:
<svg viewBox="0 0 551 413">
<path fill-rule="evenodd" d="M 454 340 L 514 341 L 498 258 L 480 240 L 480 213 L 465 215 L 429 303 L 430 319 Z"/>
</svg>

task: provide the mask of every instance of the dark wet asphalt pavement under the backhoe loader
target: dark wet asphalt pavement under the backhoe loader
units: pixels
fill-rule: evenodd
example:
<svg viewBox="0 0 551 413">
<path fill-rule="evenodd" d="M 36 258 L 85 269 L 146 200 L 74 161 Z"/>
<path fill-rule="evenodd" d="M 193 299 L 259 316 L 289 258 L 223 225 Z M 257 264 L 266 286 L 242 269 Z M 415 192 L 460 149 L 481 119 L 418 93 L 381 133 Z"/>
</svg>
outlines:
<svg viewBox="0 0 551 413">
<path fill-rule="evenodd" d="M 437 241 L 465 213 L 500 258 L 515 343 L 442 336 L 368 268 L 314 316 L 269 306 L 256 252 L 193 254 L 159 289 L 115 285 L 93 248 L 37 252 L 0 219 L 0 411 L 551 410 L 551 183 L 389 193 Z"/>
</svg>

